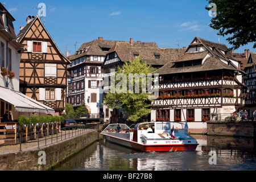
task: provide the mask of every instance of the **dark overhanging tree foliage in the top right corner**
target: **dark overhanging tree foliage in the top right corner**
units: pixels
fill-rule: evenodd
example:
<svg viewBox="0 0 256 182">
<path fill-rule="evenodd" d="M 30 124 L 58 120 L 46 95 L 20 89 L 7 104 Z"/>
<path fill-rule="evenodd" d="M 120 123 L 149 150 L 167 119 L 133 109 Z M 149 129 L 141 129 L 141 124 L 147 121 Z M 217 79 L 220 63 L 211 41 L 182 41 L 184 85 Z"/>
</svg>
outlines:
<svg viewBox="0 0 256 182">
<path fill-rule="evenodd" d="M 207 0 L 215 3 L 217 14 L 212 18 L 209 26 L 218 30 L 218 35 L 226 39 L 238 49 L 248 43 L 254 43 L 256 48 L 256 0 Z M 211 10 L 212 7 L 205 7 Z"/>
</svg>

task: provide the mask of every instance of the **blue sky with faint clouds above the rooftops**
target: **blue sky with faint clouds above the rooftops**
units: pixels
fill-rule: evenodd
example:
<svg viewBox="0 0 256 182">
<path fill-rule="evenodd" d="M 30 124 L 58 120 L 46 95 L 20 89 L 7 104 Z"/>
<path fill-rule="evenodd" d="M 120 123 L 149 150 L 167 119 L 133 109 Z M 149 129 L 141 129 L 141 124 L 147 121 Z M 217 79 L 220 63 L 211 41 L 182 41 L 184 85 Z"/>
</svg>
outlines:
<svg viewBox="0 0 256 182">
<path fill-rule="evenodd" d="M 75 53 L 82 43 L 98 37 L 105 40 L 156 42 L 158 47 L 188 47 L 195 36 L 218 42 L 217 31 L 208 26 L 210 17 L 206 0 L 85 0 L 20 1 L 3 0 L 14 16 L 16 34 L 25 26 L 28 15 L 38 15 L 39 3 L 47 6 L 45 26 L 62 53 Z M 226 38 L 220 43 L 230 47 Z M 178 42 L 179 41 L 179 42 Z M 76 43 L 77 42 L 77 43 Z M 253 44 L 235 50 L 256 52 Z"/>
</svg>

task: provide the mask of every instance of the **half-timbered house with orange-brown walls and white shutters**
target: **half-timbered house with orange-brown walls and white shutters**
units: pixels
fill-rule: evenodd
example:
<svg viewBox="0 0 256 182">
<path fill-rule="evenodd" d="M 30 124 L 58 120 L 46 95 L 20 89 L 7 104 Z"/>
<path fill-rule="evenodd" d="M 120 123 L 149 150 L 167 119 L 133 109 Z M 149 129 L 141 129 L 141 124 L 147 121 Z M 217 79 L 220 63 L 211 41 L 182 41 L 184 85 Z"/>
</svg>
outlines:
<svg viewBox="0 0 256 182">
<path fill-rule="evenodd" d="M 69 60 L 60 52 L 39 16 L 28 16 L 18 42 L 25 48 L 20 59 L 20 92 L 65 113 Z"/>
</svg>

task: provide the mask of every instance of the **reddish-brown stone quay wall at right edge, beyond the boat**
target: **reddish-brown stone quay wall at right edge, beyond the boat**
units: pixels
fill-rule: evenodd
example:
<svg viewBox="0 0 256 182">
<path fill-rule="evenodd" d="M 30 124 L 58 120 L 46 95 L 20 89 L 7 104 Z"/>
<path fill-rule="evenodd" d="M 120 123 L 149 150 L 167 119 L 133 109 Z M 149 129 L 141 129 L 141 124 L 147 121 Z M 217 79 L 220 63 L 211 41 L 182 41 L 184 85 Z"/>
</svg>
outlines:
<svg viewBox="0 0 256 182">
<path fill-rule="evenodd" d="M 255 137 L 255 121 L 208 121 L 207 135 Z"/>
</svg>

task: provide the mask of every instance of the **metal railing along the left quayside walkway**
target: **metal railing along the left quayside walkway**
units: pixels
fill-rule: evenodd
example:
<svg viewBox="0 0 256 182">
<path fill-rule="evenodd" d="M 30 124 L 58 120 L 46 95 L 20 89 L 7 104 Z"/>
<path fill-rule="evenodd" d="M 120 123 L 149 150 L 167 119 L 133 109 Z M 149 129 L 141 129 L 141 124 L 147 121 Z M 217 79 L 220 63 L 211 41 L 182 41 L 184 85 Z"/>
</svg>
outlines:
<svg viewBox="0 0 256 182">
<path fill-rule="evenodd" d="M 63 129 L 52 129 L 52 130 L 43 130 L 43 131 L 34 131 L 33 133 L 19 133 L 19 151 L 22 151 L 22 144 L 24 143 L 37 143 L 35 146 L 37 148 L 46 147 L 49 144 L 58 143 L 66 139 L 70 139 L 81 134 L 85 134 L 88 131 L 95 129 L 97 123 L 89 123 L 85 125 L 79 125 L 73 129 L 63 128 Z M 23 141 L 23 136 L 29 136 L 33 139 Z"/>
</svg>

